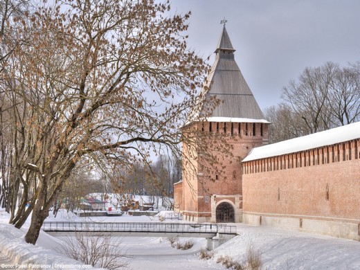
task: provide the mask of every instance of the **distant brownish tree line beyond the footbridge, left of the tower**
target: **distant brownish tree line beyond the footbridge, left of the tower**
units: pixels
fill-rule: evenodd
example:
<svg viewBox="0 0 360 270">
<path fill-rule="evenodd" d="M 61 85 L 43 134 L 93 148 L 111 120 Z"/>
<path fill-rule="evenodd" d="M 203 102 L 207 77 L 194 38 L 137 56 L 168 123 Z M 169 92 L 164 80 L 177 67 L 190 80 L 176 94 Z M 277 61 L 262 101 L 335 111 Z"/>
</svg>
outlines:
<svg viewBox="0 0 360 270">
<path fill-rule="evenodd" d="M 74 170 L 66 180 L 52 210 L 55 215 L 62 207 L 77 210 L 81 199 L 90 193 L 100 193 L 103 199 L 109 193 L 116 193 L 120 201 L 134 195 L 146 195 L 162 198 L 165 204 L 174 196 L 174 183 L 181 179 L 181 159 L 165 154 L 152 163 L 136 162 L 131 170 L 115 166 L 89 172 L 84 166 Z"/>
</svg>

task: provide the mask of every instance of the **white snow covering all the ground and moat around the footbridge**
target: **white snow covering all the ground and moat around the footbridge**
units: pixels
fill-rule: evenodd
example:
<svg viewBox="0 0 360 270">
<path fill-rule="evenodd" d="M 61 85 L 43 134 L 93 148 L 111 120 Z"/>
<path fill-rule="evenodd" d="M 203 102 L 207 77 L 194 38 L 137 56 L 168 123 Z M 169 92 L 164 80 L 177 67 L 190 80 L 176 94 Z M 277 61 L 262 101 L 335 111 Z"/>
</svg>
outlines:
<svg viewBox="0 0 360 270">
<path fill-rule="evenodd" d="M 0 252 L 12 262 L 42 264 L 81 264 L 58 253 L 62 244 L 60 237 L 41 233 L 35 246 L 24 242 L 25 229 L 17 230 L 8 223 L 8 214 L 0 210 Z M 94 222 L 159 222 L 159 217 L 87 217 L 80 218 L 66 211 L 47 221 L 94 221 Z M 165 219 L 165 222 L 182 222 Z M 234 225 L 234 224 L 231 224 Z M 217 258 L 229 255 L 244 262 L 246 249 L 252 245 L 262 254 L 264 269 L 360 269 L 360 242 L 322 235 L 288 231 L 265 226 L 236 224 L 237 235 L 215 249 L 213 258 L 200 260 L 198 253 L 204 249 L 206 240 L 192 238 L 195 245 L 188 251 L 170 246 L 166 237 L 123 237 L 122 244 L 127 255 L 132 255 L 129 269 L 224 269 Z M 181 238 L 186 241 L 188 238 Z M 1 267 L 0 267 L 1 268 Z M 67 268 L 69 269 L 69 268 Z"/>
</svg>

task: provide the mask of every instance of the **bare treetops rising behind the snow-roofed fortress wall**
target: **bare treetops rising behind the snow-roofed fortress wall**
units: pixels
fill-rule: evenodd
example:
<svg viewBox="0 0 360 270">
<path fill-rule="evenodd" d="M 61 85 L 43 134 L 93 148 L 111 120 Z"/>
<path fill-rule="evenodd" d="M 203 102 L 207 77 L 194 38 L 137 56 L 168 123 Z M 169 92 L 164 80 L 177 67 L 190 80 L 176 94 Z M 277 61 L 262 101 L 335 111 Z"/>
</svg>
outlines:
<svg viewBox="0 0 360 270">
<path fill-rule="evenodd" d="M 360 120 L 360 62 L 307 67 L 282 89 L 282 102 L 264 111 L 276 143 Z"/>
</svg>

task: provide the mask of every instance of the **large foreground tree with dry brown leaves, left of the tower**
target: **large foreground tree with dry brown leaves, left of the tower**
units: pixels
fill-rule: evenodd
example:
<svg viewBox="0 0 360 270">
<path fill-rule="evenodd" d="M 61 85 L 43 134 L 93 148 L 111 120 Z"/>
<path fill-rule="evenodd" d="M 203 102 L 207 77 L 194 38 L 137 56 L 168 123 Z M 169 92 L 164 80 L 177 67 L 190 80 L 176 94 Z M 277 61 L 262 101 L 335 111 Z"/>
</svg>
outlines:
<svg viewBox="0 0 360 270">
<path fill-rule="evenodd" d="M 13 106 L 10 223 L 20 228 L 32 213 L 26 242 L 35 244 L 84 159 L 129 169 L 164 147 L 179 155 L 191 138 L 179 126 L 208 66 L 187 48 L 189 14 L 168 10 L 145 0 L 57 1 L 21 24 L 27 43 L 10 55 L 2 87 Z"/>
</svg>

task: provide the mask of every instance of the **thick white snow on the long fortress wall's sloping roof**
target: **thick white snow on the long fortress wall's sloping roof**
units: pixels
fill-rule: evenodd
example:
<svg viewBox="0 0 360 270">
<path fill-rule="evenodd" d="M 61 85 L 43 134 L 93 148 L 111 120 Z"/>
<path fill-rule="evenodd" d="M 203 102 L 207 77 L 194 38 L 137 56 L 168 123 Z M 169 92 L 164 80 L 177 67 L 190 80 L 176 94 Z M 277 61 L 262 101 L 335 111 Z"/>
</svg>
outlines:
<svg viewBox="0 0 360 270">
<path fill-rule="evenodd" d="M 282 154 L 300 152 L 325 145 L 351 141 L 355 138 L 360 138 L 360 122 L 299 138 L 292 138 L 291 140 L 282 141 L 280 143 L 255 147 L 243 161 L 253 161 L 256 159 L 264 159 L 269 156 L 280 156 Z"/>
</svg>

